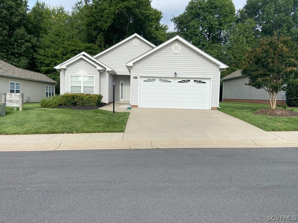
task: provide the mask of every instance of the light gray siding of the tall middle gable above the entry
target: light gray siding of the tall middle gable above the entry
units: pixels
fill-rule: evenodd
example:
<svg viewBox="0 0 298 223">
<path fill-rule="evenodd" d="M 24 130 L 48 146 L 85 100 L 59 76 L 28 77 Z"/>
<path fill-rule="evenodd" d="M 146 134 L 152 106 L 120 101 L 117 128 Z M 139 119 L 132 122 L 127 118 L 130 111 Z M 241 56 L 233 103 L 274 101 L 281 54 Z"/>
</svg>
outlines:
<svg viewBox="0 0 298 223">
<path fill-rule="evenodd" d="M 134 39 L 139 40 L 139 45 L 132 44 Z M 125 43 L 97 56 L 96 59 L 113 68 L 118 74 L 130 74 L 125 63 L 151 50 L 153 47 L 138 37 L 127 40 Z"/>
</svg>

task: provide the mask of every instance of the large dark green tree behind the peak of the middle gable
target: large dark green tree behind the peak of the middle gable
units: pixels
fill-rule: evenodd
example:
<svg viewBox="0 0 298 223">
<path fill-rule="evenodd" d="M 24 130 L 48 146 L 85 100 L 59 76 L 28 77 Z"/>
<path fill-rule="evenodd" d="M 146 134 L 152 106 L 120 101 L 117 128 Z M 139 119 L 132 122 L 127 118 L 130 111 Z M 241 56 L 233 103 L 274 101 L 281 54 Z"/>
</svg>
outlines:
<svg viewBox="0 0 298 223">
<path fill-rule="evenodd" d="M 151 7 L 150 0 L 91 0 L 78 2 L 73 14 L 83 24 L 89 43 L 107 48 L 138 33 L 152 43 L 167 40 L 162 12 Z"/>
</svg>

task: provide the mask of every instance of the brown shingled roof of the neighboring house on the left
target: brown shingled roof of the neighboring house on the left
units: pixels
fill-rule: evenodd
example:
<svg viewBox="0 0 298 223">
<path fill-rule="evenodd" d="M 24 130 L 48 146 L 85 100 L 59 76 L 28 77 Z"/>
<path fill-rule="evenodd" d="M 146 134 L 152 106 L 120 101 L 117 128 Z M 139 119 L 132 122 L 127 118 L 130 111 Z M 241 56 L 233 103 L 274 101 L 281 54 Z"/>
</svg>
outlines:
<svg viewBox="0 0 298 223">
<path fill-rule="evenodd" d="M 7 62 L 4 62 L 3 60 L 0 60 L 0 76 L 8 76 L 57 84 L 56 81 L 52 80 L 42 73 L 21 69 Z"/>
</svg>

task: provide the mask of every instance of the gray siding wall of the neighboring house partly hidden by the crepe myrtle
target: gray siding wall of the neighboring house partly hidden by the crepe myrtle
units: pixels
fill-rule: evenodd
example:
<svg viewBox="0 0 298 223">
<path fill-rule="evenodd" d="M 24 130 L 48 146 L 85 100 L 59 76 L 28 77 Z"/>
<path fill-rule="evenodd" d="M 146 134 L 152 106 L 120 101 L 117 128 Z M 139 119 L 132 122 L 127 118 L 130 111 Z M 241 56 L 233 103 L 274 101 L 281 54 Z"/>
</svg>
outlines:
<svg viewBox="0 0 298 223">
<path fill-rule="evenodd" d="M 269 94 L 264 89 L 256 89 L 245 85 L 249 82 L 248 76 L 234 78 L 223 81 L 223 98 L 224 99 L 255 99 L 269 100 Z M 284 93 L 284 98 L 283 98 Z M 285 100 L 285 92 L 281 91 L 277 94 L 277 100 Z"/>
</svg>

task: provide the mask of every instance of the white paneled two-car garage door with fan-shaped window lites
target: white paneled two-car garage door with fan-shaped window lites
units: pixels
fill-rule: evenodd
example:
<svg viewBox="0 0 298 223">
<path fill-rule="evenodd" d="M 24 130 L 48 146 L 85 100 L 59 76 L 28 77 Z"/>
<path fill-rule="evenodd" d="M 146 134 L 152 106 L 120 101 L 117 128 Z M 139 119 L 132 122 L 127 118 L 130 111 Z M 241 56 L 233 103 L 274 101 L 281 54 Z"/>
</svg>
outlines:
<svg viewBox="0 0 298 223">
<path fill-rule="evenodd" d="M 210 109 L 210 78 L 141 77 L 140 108 Z"/>
</svg>

